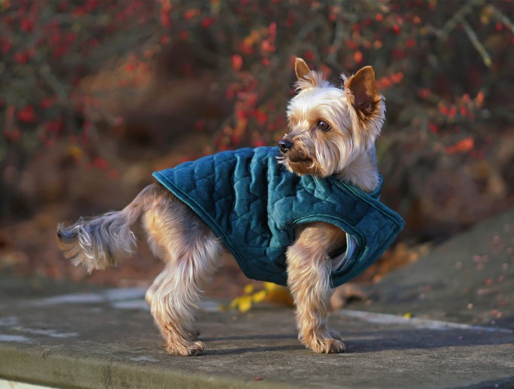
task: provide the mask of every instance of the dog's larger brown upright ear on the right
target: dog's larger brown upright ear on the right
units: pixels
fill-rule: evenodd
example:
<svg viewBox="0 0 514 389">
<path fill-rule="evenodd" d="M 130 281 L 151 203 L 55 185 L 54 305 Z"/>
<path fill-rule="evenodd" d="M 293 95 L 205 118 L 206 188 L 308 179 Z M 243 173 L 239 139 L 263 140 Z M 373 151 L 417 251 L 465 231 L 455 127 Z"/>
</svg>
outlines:
<svg viewBox="0 0 514 389">
<path fill-rule="evenodd" d="M 344 87 L 352 92 L 352 105 L 356 110 L 364 114 L 373 113 L 381 99 L 377 92 L 373 67 L 364 66 L 344 82 Z"/>
</svg>

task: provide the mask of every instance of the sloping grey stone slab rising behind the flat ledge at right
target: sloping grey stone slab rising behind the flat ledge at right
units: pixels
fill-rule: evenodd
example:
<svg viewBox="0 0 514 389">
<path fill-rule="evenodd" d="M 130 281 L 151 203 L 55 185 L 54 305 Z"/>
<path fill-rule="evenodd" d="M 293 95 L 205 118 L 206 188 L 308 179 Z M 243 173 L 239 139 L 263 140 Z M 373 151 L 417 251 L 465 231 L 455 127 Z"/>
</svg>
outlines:
<svg viewBox="0 0 514 389">
<path fill-rule="evenodd" d="M 352 308 L 514 329 L 514 208 L 393 271 L 369 292 L 368 304 Z"/>
</svg>

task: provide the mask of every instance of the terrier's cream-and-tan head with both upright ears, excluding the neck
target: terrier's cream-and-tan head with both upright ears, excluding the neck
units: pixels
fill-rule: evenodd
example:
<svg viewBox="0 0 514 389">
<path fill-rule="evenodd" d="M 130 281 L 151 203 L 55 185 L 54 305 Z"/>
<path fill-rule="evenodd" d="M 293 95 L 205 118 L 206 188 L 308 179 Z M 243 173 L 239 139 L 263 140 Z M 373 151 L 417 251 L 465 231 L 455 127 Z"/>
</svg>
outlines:
<svg viewBox="0 0 514 389">
<path fill-rule="evenodd" d="M 359 153 L 368 152 L 380 133 L 385 106 L 371 66 L 343 87 L 329 84 L 297 58 L 299 93 L 287 108 L 288 133 L 279 142 L 279 162 L 291 172 L 319 177 L 340 173 Z"/>
</svg>

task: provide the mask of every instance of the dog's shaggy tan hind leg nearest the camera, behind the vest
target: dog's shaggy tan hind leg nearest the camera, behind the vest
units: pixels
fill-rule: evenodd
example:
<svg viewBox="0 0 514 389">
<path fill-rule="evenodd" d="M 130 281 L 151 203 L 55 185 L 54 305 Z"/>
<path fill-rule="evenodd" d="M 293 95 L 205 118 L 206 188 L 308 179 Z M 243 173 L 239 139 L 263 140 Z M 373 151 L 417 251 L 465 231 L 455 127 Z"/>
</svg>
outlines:
<svg viewBox="0 0 514 389">
<path fill-rule="evenodd" d="M 221 243 L 185 204 L 163 193 L 146 211 L 144 225 L 154 254 L 165 263 L 146 293 L 170 354 L 195 355 L 204 344 L 191 326 L 203 288 L 219 266 Z"/>
</svg>

